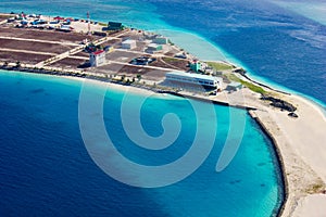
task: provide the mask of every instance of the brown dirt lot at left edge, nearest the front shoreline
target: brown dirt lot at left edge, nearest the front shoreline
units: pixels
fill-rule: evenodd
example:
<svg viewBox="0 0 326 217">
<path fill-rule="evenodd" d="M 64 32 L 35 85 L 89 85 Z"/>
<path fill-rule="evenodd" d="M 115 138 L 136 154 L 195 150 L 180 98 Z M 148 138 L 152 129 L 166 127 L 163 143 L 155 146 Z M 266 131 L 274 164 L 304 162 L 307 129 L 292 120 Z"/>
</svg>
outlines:
<svg viewBox="0 0 326 217">
<path fill-rule="evenodd" d="M 21 63 L 36 64 L 49 58 L 51 58 L 51 55 L 38 55 L 38 54 L 29 54 L 29 53 L 0 51 L 0 60 L 8 61 L 8 62 L 20 61 Z"/>
</svg>

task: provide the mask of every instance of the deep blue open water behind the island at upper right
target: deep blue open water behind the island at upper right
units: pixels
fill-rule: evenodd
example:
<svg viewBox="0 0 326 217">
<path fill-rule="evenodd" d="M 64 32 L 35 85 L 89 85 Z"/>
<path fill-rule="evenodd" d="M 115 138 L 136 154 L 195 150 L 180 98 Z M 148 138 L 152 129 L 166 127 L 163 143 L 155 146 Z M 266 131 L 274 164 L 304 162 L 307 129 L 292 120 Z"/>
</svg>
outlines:
<svg viewBox="0 0 326 217">
<path fill-rule="evenodd" d="M 166 23 L 200 33 L 254 75 L 326 102 L 325 25 L 268 1 L 153 2 Z"/>
</svg>

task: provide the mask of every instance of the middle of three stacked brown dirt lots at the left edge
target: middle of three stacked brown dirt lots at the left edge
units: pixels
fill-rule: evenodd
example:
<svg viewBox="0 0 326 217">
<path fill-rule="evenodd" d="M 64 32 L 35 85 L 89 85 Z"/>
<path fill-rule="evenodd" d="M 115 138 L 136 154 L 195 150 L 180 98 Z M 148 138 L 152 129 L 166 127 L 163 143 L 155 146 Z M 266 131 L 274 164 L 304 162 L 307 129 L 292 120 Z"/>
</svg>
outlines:
<svg viewBox="0 0 326 217">
<path fill-rule="evenodd" d="M 0 48 L 27 50 L 27 51 L 39 51 L 39 52 L 58 53 L 59 54 L 59 53 L 68 51 L 71 49 L 73 49 L 74 47 L 0 38 Z"/>
</svg>

